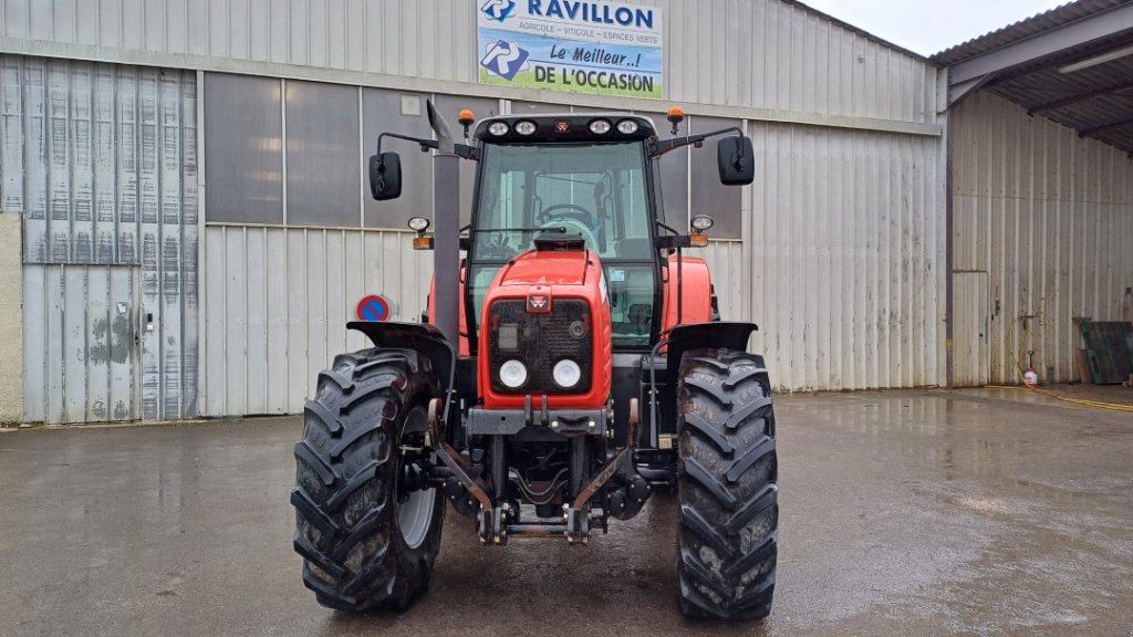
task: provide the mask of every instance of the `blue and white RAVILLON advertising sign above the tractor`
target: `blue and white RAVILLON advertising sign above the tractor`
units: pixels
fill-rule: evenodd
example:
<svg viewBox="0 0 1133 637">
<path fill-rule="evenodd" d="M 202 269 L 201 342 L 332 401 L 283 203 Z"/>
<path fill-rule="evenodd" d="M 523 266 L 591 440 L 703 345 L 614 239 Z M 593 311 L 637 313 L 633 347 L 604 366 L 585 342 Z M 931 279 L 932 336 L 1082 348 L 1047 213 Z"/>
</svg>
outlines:
<svg viewBox="0 0 1133 637">
<path fill-rule="evenodd" d="M 661 9 L 585 0 L 476 0 L 480 84 L 662 97 Z"/>
</svg>

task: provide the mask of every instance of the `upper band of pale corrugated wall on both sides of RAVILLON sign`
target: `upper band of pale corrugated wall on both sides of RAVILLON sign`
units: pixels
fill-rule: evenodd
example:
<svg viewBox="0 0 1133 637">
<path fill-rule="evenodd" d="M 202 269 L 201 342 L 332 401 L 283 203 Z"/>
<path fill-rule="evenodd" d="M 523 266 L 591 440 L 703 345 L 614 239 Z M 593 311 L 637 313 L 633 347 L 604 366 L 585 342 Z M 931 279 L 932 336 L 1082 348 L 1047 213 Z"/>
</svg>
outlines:
<svg viewBox="0 0 1133 637">
<path fill-rule="evenodd" d="M 936 124 L 934 67 L 798 5 L 634 3 L 665 12 L 667 100 L 766 109 L 783 117 L 818 113 Z M 472 52 L 479 5 L 475 0 L 7 0 L 0 3 L 0 35 L 140 50 L 174 60 L 190 54 L 476 84 Z M 221 70 L 211 65 L 202 68 Z M 245 70 L 232 65 L 224 69 Z M 534 91 L 526 94 L 553 99 Z"/>
</svg>

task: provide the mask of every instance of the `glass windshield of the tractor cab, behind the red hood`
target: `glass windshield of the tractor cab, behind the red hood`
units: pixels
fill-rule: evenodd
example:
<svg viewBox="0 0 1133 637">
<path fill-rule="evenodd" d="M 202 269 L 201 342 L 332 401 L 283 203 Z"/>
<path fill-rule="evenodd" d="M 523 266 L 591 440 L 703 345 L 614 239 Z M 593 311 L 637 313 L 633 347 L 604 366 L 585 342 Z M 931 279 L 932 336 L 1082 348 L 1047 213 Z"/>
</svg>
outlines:
<svg viewBox="0 0 1133 637">
<path fill-rule="evenodd" d="M 649 343 L 655 254 L 641 142 L 485 144 L 471 228 L 479 316 L 500 265 L 540 235 L 581 237 L 605 269 L 615 347 Z"/>
</svg>

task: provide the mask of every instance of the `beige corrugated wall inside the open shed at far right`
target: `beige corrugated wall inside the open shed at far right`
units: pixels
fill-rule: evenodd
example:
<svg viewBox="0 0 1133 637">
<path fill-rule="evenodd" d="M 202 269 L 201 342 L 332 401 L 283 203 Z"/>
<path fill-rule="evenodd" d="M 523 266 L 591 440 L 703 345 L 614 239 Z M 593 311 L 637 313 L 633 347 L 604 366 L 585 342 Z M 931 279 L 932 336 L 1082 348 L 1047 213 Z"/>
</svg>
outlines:
<svg viewBox="0 0 1133 637">
<path fill-rule="evenodd" d="M 953 267 L 990 299 L 990 360 L 956 367 L 1020 382 L 1034 350 L 1045 381 L 1076 380 L 1074 318 L 1133 320 L 1133 160 L 986 92 L 952 117 Z"/>
</svg>

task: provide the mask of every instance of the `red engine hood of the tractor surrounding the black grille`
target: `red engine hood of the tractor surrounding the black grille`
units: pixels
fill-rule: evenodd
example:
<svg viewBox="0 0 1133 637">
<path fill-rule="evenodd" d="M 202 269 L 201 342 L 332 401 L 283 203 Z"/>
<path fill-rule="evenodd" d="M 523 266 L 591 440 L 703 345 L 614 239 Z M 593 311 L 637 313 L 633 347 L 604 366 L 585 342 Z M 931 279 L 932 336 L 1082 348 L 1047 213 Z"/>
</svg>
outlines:
<svg viewBox="0 0 1133 637">
<path fill-rule="evenodd" d="M 492 304 L 499 300 L 522 300 L 527 314 L 552 314 L 555 303 L 579 299 L 590 309 L 589 338 L 591 346 L 590 385 L 579 393 L 551 393 L 547 407 L 551 409 L 596 409 L 610 400 L 612 379 L 612 336 L 610 324 L 610 300 L 606 282 L 602 274 L 598 255 L 589 250 L 538 252 L 533 250 L 516 257 L 500 269 L 484 298 L 480 314 L 479 373 L 477 384 L 484 406 L 492 409 L 518 409 L 523 407 L 526 393 L 496 392 L 492 388 L 492 360 L 489 360 L 489 336 L 493 329 Z M 519 338 L 522 338 L 520 336 Z M 525 365 L 528 363 L 525 362 Z M 528 371 L 530 377 L 534 370 Z M 545 370 L 550 373 L 550 370 Z M 518 390 L 522 391 L 522 390 Z M 542 392 L 533 391 L 531 405 L 542 408 Z"/>
</svg>

